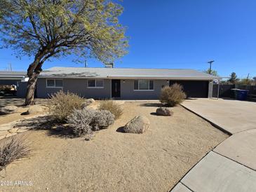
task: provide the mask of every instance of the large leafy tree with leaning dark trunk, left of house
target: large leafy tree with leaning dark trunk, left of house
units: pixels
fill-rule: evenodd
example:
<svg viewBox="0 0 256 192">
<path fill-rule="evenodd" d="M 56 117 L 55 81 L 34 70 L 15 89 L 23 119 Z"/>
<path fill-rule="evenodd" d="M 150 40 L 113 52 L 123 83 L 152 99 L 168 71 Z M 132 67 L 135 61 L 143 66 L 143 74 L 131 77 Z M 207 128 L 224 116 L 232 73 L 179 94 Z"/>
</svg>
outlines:
<svg viewBox="0 0 256 192">
<path fill-rule="evenodd" d="M 34 56 L 27 69 L 25 105 L 33 104 L 43 62 L 74 54 L 113 62 L 127 53 L 123 8 L 109 0 L 1 0 L 0 34 L 5 48 Z"/>
</svg>

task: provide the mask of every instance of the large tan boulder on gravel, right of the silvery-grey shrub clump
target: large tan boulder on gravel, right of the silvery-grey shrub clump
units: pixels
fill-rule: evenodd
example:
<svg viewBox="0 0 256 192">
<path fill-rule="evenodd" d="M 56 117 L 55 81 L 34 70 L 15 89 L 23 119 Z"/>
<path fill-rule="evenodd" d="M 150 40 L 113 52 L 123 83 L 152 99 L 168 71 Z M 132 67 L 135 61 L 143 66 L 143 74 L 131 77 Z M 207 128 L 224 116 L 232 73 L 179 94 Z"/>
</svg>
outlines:
<svg viewBox="0 0 256 192">
<path fill-rule="evenodd" d="M 124 132 L 143 133 L 149 128 L 149 119 L 146 116 L 135 116 L 124 127 Z"/>
</svg>

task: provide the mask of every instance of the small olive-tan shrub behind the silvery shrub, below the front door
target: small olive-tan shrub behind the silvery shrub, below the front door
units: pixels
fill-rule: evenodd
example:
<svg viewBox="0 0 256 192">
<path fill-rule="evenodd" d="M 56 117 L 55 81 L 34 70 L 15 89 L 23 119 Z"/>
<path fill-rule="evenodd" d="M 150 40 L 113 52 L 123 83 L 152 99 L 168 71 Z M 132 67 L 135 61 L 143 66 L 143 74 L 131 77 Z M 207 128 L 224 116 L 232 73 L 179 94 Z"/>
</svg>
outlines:
<svg viewBox="0 0 256 192">
<path fill-rule="evenodd" d="M 123 114 L 123 109 L 119 104 L 116 104 L 112 100 L 106 100 L 100 102 L 99 110 L 107 110 L 114 114 L 115 119 L 119 118 Z"/>
</svg>

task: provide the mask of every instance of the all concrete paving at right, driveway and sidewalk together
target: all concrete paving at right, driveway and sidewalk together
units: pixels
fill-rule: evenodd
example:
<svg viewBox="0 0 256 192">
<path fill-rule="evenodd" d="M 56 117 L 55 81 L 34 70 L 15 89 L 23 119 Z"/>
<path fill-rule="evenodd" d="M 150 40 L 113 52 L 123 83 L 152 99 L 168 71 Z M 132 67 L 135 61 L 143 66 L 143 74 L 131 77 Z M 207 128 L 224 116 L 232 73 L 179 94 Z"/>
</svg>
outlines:
<svg viewBox="0 0 256 192">
<path fill-rule="evenodd" d="M 256 103 L 198 99 L 182 106 L 231 137 L 202 158 L 172 191 L 256 191 Z"/>
</svg>

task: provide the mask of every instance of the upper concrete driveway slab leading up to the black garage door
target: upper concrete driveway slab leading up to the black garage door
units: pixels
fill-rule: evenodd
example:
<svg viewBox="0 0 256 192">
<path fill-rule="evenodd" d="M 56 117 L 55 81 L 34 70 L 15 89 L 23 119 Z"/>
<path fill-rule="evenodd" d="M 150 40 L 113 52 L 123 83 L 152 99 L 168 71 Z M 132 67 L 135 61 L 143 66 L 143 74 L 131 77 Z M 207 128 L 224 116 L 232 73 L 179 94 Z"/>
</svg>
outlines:
<svg viewBox="0 0 256 192">
<path fill-rule="evenodd" d="M 256 102 L 237 100 L 185 100 L 182 106 L 234 134 L 256 128 Z"/>
</svg>

